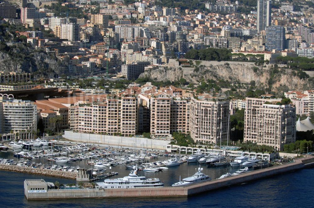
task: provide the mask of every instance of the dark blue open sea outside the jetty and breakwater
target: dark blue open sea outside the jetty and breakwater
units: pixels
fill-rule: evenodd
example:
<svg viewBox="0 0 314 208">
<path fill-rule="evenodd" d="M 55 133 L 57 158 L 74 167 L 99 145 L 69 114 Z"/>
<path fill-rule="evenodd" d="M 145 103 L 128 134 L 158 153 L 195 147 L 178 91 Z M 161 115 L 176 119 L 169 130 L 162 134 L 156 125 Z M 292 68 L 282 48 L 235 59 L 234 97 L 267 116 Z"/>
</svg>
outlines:
<svg viewBox="0 0 314 208">
<path fill-rule="evenodd" d="M 2 207 L 314 207 L 314 169 L 302 169 L 190 197 L 28 201 L 24 179 L 72 180 L 0 171 Z"/>
</svg>

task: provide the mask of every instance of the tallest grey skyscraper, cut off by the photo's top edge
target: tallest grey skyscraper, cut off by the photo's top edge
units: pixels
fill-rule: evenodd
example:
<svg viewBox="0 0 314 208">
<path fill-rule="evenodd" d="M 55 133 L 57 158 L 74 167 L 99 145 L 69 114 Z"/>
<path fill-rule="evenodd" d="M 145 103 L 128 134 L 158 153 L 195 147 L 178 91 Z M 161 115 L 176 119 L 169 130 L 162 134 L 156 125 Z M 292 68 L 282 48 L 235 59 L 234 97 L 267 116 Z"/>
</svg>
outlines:
<svg viewBox="0 0 314 208">
<path fill-rule="evenodd" d="M 271 25 L 272 1 L 257 0 L 257 32 Z"/>
</svg>

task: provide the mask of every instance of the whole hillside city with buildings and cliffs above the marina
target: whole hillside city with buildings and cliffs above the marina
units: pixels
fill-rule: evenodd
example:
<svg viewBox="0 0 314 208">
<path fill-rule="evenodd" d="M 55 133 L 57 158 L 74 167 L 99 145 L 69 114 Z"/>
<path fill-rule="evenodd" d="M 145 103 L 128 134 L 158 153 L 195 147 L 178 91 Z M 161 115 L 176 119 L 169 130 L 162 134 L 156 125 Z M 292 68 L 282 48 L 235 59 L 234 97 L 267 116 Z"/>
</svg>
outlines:
<svg viewBox="0 0 314 208">
<path fill-rule="evenodd" d="M 1 141 L 313 150 L 312 1 L 0 2 Z"/>
</svg>

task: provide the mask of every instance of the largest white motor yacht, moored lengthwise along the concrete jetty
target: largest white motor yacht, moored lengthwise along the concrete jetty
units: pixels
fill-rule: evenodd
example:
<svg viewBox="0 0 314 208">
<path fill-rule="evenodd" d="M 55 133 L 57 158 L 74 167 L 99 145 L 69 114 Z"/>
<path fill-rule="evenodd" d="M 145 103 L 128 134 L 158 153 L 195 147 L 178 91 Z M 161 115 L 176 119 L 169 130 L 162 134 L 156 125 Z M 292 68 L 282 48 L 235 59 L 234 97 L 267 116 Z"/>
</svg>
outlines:
<svg viewBox="0 0 314 208">
<path fill-rule="evenodd" d="M 146 178 L 138 176 L 137 169 L 131 171 L 128 176 L 117 179 L 106 179 L 104 182 L 96 183 L 100 189 L 129 189 L 129 188 L 154 188 L 163 187 L 164 183 L 158 178 Z"/>
</svg>

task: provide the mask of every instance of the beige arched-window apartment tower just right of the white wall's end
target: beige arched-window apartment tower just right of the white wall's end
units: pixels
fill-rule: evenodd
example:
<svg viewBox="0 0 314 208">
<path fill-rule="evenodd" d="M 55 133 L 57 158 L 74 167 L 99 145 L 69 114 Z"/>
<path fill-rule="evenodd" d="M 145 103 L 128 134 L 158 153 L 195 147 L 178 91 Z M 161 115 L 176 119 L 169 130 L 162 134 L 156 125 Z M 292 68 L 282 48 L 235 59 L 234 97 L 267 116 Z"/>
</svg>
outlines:
<svg viewBox="0 0 314 208">
<path fill-rule="evenodd" d="M 190 133 L 195 142 L 227 140 L 228 121 L 229 101 L 212 101 L 206 94 L 191 98 Z"/>
</svg>

